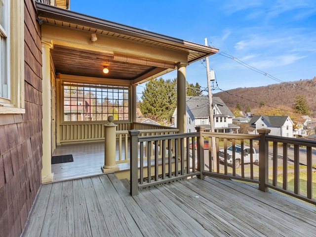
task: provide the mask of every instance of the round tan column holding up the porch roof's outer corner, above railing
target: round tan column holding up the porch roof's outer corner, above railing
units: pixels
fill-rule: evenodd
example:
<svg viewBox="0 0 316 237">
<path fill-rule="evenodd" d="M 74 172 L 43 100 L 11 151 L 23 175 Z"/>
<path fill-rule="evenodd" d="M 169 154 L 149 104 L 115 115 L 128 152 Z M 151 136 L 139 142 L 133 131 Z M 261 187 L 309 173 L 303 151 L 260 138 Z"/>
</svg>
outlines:
<svg viewBox="0 0 316 237">
<path fill-rule="evenodd" d="M 179 133 L 187 130 L 186 126 L 186 66 L 178 64 L 177 74 L 177 128 Z"/>
</svg>

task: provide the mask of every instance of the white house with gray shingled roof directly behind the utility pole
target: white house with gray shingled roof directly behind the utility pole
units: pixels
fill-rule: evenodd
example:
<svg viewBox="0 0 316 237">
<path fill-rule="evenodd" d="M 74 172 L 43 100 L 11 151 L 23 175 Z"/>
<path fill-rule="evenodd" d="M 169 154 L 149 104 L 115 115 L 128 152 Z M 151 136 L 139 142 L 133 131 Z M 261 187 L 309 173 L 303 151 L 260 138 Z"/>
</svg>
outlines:
<svg viewBox="0 0 316 237">
<path fill-rule="evenodd" d="M 212 111 L 215 132 L 233 133 L 234 130 L 236 132 L 238 131 L 239 126 L 233 124 L 233 113 L 221 98 L 212 98 Z M 210 129 L 208 96 L 187 96 L 186 116 L 187 132 L 194 132 L 196 126 L 204 126 L 206 130 Z M 172 117 L 174 118 L 174 121 L 177 120 L 177 109 Z"/>
</svg>

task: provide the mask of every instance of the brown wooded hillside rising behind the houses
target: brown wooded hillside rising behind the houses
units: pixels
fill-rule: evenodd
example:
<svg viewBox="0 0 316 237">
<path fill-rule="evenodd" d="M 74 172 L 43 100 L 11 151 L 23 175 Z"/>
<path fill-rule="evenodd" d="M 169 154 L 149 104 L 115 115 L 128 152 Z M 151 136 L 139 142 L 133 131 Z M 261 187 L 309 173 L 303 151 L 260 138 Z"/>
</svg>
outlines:
<svg viewBox="0 0 316 237">
<path fill-rule="evenodd" d="M 304 96 L 311 116 L 316 116 L 316 77 L 267 86 L 236 88 L 214 93 L 213 96 L 220 97 L 230 108 L 235 108 L 239 103 L 242 111 L 245 111 L 248 105 L 251 110 L 259 108 L 260 103 L 292 107 L 294 98 L 298 94 Z"/>
</svg>

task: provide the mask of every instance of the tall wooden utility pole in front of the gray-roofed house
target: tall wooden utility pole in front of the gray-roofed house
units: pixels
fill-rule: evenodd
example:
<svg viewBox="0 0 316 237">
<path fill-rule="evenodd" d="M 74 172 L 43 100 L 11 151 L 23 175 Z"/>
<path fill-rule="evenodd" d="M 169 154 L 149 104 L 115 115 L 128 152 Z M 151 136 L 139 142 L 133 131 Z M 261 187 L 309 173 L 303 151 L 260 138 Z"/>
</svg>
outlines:
<svg viewBox="0 0 316 237">
<path fill-rule="evenodd" d="M 204 43 L 207 46 L 207 38 L 204 39 Z M 205 58 L 206 61 L 206 75 L 207 75 L 207 87 L 208 87 L 208 99 L 209 99 L 209 120 L 210 120 L 210 126 L 211 126 L 211 132 L 215 132 L 214 128 L 214 117 L 213 117 L 213 110 L 212 110 L 212 92 L 211 92 L 211 75 L 209 71 L 209 62 L 208 57 Z M 212 168 L 214 170 L 217 170 L 217 163 L 216 163 L 216 143 L 215 143 L 215 137 L 212 137 L 212 156 L 213 156 L 213 167 L 210 165 L 209 169 L 210 171 Z"/>
</svg>

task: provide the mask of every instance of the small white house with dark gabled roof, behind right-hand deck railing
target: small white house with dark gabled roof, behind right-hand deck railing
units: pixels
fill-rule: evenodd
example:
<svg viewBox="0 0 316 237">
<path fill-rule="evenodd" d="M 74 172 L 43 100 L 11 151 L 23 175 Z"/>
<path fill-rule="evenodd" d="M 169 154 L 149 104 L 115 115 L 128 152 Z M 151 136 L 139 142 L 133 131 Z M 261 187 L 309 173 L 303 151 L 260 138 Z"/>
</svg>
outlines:
<svg viewBox="0 0 316 237">
<path fill-rule="evenodd" d="M 288 116 L 253 116 L 249 124 L 255 128 L 250 134 L 258 134 L 257 129 L 268 128 L 269 135 L 293 137 L 293 121 Z"/>
</svg>

